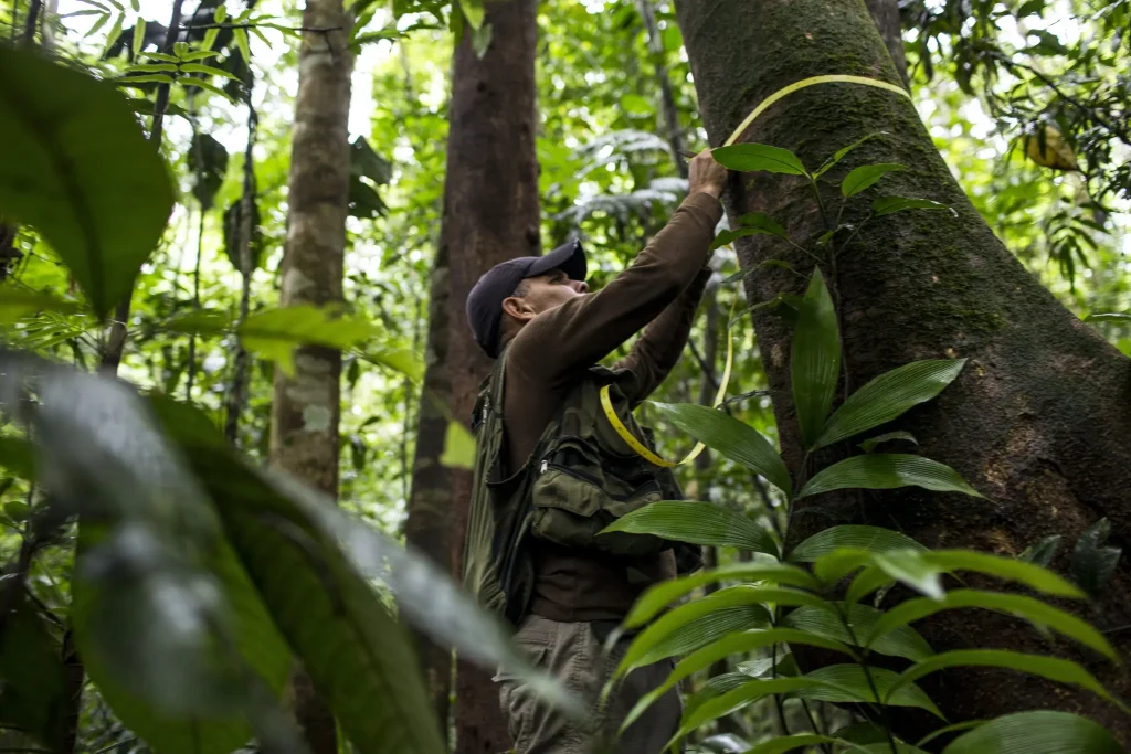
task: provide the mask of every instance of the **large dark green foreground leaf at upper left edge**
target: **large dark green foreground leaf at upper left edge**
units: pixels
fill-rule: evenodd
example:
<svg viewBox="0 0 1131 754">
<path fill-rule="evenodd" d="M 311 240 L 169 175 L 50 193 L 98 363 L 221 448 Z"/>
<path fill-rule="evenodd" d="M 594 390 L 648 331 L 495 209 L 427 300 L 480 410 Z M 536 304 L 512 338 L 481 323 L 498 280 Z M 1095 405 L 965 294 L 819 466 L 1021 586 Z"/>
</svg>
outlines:
<svg viewBox="0 0 1131 754">
<path fill-rule="evenodd" d="M 84 133 L 98 138 L 72 138 Z M 173 207 L 156 146 L 113 85 L 11 47 L 0 49 L 0 214 L 42 233 L 105 314 Z"/>
</svg>

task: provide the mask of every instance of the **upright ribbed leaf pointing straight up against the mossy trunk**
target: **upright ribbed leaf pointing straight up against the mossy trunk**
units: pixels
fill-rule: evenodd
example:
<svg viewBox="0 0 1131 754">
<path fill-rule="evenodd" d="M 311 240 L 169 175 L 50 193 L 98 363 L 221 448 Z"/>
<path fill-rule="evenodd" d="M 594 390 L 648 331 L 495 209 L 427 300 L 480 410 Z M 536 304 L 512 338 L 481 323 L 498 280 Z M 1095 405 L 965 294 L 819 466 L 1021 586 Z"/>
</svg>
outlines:
<svg viewBox="0 0 1131 754">
<path fill-rule="evenodd" d="M 821 270 L 814 269 L 793 328 L 789 370 L 793 402 L 805 448 L 813 448 L 832 407 L 832 396 L 840 379 L 839 338 L 832 298 Z"/>
</svg>

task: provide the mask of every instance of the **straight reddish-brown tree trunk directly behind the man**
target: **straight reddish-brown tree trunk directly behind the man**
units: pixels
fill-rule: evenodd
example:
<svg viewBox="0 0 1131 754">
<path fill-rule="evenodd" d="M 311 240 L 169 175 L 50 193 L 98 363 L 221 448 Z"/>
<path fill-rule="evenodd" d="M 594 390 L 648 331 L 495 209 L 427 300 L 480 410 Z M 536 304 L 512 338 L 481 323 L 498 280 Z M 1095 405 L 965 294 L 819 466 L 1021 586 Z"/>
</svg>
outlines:
<svg viewBox="0 0 1131 754">
<path fill-rule="evenodd" d="M 469 471 L 440 465 L 446 415 L 470 418 L 490 363 L 472 339 L 464 305 L 487 269 L 538 254 L 538 165 L 535 155 L 536 2 L 486 5 L 492 42 L 481 58 L 470 29 L 452 59 L 448 164 L 440 249 L 430 293 L 428 367 L 413 465 L 406 538 L 460 570 L 470 501 Z M 441 719 L 446 718 L 450 650 L 422 648 Z M 511 747 L 492 674 L 460 662 L 456 670 L 455 751 Z"/>
</svg>

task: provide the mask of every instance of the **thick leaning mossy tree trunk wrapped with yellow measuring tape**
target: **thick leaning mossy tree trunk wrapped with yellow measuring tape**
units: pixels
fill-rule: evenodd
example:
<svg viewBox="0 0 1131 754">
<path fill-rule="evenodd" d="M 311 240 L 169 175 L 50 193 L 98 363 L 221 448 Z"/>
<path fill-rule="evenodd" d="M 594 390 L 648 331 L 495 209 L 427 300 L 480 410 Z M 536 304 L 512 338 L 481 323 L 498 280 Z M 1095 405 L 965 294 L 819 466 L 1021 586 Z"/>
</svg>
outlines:
<svg viewBox="0 0 1131 754">
<path fill-rule="evenodd" d="M 714 145 L 720 145 L 752 107 L 777 89 L 824 73 L 898 81 L 891 58 L 862 0 L 677 0 L 679 23 L 700 107 Z M 839 147 L 877 131 L 828 176 L 839 181 L 856 165 L 901 163 L 862 194 L 922 197 L 950 211 L 905 211 L 871 220 L 824 269 L 839 294 L 839 319 L 849 387 L 922 358 L 966 357 L 958 380 L 935 401 L 891 428 L 909 430 L 922 453 L 958 469 L 986 499 L 934 494 L 912 487 L 803 500 L 791 539 L 835 523 L 866 522 L 899 529 L 930 547 L 972 547 L 1013 556 L 1048 535 L 1063 535 L 1053 566 L 1067 570 L 1080 534 L 1107 517 L 1115 537 L 1131 535 L 1131 359 L 1061 306 L 994 237 L 920 121 L 913 105 L 890 92 L 846 84 L 798 90 L 770 107 L 743 136 L 785 147 L 815 167 Z M 826 191 L 839 199 L 836 183 Z M 834 203 L 834 207 L 836 205 Z M 857 205 L 846 222 L 860 223 Z M 813 246 L 824 225 L 803 179 L 754 173 L 732 180 L 734 218 L 766 211 L 791 237 Z M 843 237 L 843 236 L 841 236 Z M 754 269 L 787 260 L 809 272 L 813 261 L 786 243 L 761 236 L 740 242 Z M 751 303 L 801 293 L 803 283 L 777 268 L 746 279 Z M 795 478 L 803 477 L 789 396 L 791 329 L 766 310 L 754 313 L 782 437 Z M 858 442 L 858 440 L 857 440 Z M 818 453 L 815 468 L 853 452 L 852 443 Z M 968 579 L 968 583 L 979 583 Z M 1072 606 L 1128 656 L 1131 577 L 1126 558 L 1093 608 Z M 920 627 L 936 650 L 965 647 L 1030 652 L 1064 651 L 1126 697 L 1131 678 L 1098 656 L 1051 649 L 1027 624 L 990 613 L 944 613 Z M 1126 743 L 1131 721 L 1086 692 L 999 670 L 961 669 L 924 686 L 952 720 L 1019 709 L 1062 709 L 1091 717 Z"/>
</svg>

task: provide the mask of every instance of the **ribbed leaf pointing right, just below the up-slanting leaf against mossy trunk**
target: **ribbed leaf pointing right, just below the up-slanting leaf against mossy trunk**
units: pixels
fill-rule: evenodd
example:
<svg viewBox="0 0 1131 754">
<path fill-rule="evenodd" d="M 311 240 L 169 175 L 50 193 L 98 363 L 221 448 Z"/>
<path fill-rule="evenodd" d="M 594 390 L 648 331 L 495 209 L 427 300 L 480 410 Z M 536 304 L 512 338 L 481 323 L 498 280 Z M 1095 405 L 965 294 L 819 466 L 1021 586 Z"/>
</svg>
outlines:
<svg viewBox="0 0 1131 754">
<path fill-rule="evenodd" d="M 869 453 L 846 458 L 821 469 L 802 487 L 797 497 L 819 495 L 832 489 L 892 489 L 913 485 L 935 492 L 982 496 L 958 476 L 958 471 L 938 461 L 922 456 Z"/>
</svg>

